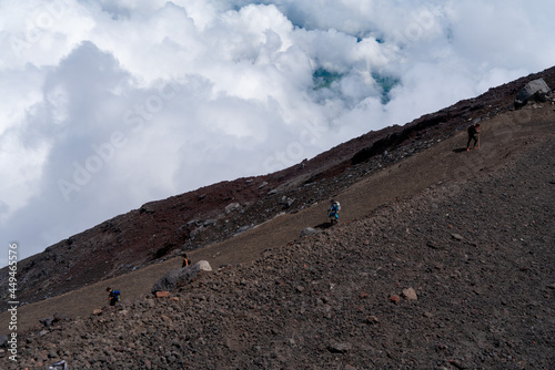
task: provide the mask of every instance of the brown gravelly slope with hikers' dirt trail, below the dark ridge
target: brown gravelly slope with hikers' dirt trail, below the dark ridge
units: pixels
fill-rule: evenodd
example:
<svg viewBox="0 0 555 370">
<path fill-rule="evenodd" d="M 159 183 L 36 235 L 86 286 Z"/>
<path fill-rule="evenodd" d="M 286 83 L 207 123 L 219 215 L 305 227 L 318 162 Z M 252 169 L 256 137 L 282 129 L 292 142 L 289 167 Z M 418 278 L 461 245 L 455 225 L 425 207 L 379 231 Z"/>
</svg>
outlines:
<svg viewBox="0 0 555 370">
<path fill-rule="evenodd" d="M 191 251 L 215 271 L 173 291 L 179 300 L 149 295 L 179 266 L 169 259 L 21 307 L 20 362 L 0 361 L 13 369 L 58 359 L 78 369 L 553 368 L 553 109 L 483 122 L 480 151 L 461 151 L 461 133 L 369 174 L 336 194 L 343 212 L 332 228 L 320 203 Z M 322 233 L 292 243 L 304 227 Z M 107 284 L 124 301 L 91 316 Z M 70 320 L 23 339 L 56 311 Z"/>
</svg>

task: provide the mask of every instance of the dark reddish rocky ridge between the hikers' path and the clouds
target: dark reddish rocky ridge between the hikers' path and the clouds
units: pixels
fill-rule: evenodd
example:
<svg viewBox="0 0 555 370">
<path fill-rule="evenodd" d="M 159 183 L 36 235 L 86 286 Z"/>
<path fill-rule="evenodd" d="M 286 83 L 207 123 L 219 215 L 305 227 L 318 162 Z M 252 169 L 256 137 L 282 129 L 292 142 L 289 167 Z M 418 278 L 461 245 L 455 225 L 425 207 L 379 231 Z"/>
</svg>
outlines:
<svg viewBox="0 0 555 370">
<path fill-rule="evenodd" d="M 555 85 L 555 68 L 532 74 L 451 107 L 351 140 L 290 168 L 221 182 L 148 203 L 19 261 L 19 299 L 30 304 L 119 276 L 233 237 L 285 212 L 300 212 L 364 176 L 427 150 L 513 109 L 523 85 L 543 78 Z M 0 270 L 6 282 L 7 269 Z M 7 299 L 2 299 L 6 306 Z M 4 308 L 4 307 L 2 307 Z"/>
</svg>

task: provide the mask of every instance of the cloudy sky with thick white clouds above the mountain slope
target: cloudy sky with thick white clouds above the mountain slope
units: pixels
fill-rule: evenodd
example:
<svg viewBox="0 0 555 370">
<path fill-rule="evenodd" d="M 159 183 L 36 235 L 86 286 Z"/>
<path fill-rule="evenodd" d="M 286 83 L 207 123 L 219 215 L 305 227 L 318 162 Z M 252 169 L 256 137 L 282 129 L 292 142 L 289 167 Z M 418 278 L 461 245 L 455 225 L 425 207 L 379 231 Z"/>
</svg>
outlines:
<svg viewBox="0 0 555 370">
<path fill-rule="evenodd" d="M 0 0 L 0 265 L 9 243 L 21 259 L 549 68 L 553 14 L 553 0 Z"/>
</svg>

